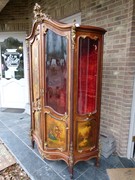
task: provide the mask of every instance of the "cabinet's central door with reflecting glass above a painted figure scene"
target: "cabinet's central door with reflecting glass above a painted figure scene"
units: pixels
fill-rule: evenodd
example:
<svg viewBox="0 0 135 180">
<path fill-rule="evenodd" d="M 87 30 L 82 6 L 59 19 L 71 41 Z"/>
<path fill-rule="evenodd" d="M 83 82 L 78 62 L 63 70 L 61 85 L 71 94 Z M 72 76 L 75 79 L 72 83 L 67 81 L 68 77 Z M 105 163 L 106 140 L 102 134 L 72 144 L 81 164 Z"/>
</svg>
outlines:
<svg viewBox="0 0 135 180">
<path fill-rule="evenodd" d="M 67 151 L 68 40 L 66 33 L 47 29 L 44 39 L 44 150 Z"/>
</svg>

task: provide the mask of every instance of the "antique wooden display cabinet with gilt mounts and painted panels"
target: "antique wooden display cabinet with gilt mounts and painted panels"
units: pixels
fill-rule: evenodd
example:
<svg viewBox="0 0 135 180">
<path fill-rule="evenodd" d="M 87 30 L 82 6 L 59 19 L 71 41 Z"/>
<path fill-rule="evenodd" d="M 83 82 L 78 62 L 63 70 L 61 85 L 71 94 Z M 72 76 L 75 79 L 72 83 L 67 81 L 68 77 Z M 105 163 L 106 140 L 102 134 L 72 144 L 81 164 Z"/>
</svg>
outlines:
<svg viewBox="0 0 135 180">
<path fill-rule="evenodd" d="M 92 26 L 63 24 L 34 7 L 29 42 L 32 144 L 44 158 L 99 159 L 103 38 Z"/>
</svg>

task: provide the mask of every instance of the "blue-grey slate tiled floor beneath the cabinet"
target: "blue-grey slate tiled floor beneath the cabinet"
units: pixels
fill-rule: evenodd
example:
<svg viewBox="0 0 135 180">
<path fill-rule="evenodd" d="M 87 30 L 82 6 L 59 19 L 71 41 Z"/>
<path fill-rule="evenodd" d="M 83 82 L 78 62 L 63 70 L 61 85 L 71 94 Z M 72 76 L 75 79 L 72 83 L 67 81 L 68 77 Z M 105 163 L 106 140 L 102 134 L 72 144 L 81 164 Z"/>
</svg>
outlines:
<svg viewBox="0 0 135 180">
<path fill-rule="evenodd" d="M 43 160 L 37 148 L 31 148 L 29 132 L 28 114 L 0 111 L 0 139 L 32 180 L 70 180 L 65 162 Z M 99 168 L 94 166 L 94 160 L 77 163 L 74 166 L 73 179 L 109 180 L 106 169 L 124 167 L 135 167 L 135 163 L 116 155 L 107 159 L 101 156 Z"/>
</svg>

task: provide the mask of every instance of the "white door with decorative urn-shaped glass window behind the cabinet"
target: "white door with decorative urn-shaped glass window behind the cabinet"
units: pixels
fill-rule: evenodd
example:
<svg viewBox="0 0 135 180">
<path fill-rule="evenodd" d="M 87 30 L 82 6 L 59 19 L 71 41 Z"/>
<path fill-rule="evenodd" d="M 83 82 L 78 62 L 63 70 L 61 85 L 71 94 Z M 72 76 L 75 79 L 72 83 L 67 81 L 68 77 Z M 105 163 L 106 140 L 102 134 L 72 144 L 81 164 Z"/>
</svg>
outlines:
<svg viewBox="0 0 135 180">
<path fill-rule="evenodd" d="M 25 108 L 28 103 L 25 33 L 1 36 L 0 107 Z"/>
</svg>

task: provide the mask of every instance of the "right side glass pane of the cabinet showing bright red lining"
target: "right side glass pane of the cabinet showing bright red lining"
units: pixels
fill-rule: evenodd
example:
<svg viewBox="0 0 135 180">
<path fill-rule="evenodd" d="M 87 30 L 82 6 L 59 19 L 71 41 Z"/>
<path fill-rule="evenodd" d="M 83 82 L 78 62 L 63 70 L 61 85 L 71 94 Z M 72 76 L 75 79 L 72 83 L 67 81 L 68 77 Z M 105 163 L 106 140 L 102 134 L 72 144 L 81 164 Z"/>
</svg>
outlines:
<svg viewBox="0 0 135 180">
<path fill-rule="evenodd" d="M 98 40 L 79 38 L 78 100 L 79 114 L 96 110 Z"/>
</svg>

